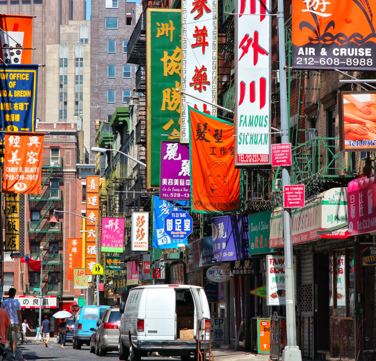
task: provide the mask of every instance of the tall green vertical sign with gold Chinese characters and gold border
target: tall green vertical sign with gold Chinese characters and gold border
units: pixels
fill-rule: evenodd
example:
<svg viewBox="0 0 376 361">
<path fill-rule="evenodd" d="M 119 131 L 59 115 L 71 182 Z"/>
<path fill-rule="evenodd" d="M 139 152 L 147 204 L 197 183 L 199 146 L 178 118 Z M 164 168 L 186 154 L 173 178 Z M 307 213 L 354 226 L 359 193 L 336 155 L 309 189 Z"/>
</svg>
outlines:
<svg viewBox="0 0 376 361">
<path fill-rule="evenodd" d="M 180 139 L 181 11 L 147 9 L 147 188 L 159 187 L 161 140 Z"/>
</svg>

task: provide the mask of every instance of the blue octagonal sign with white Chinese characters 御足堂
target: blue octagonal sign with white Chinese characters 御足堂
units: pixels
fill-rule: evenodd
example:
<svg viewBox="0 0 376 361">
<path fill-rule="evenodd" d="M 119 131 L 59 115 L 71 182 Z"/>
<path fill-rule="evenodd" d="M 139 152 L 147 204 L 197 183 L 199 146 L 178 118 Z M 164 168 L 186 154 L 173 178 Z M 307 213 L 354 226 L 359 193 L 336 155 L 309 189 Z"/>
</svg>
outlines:
<svg viewBox="0 0 376 361">
<path fill-rule="evenodd" d="M 171 239 L 184 239 L 193 231 L 192 217 L 184 210 L 173 210 L 165 217 L 164 226 Z"/>
</svg>

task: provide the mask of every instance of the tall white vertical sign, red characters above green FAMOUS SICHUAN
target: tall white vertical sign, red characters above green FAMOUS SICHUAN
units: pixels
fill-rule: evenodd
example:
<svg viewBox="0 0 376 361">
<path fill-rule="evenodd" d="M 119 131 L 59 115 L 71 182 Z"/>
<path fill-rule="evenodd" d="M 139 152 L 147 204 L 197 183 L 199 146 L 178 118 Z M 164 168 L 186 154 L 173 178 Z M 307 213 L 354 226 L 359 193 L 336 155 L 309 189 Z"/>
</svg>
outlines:
<svg viewBox="0 0 376 361">
<path fill-rule="evenodd" d="M 269 164 L 270 0 L 235 5 L 235 164 Z"/>
</svg>

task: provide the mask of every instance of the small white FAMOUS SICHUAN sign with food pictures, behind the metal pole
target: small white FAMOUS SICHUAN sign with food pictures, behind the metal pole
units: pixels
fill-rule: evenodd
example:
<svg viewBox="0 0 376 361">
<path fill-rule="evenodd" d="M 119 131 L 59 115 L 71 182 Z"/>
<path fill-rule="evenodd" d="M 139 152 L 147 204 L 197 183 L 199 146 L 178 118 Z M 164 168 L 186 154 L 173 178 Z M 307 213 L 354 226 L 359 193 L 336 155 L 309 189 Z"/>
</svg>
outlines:
<svg viewBox="0 0 376 361">
<path fill-rule="evenodd" d="M 266 304 L 268 306 L 286 305 L 286 283 L 285 283 L 285 256 L 266 256 Z M 296 256 L 294 256 L 294 275 L 296 278 Z M 295 298 L 296 298 L 295 280 Z"/>
</svg>

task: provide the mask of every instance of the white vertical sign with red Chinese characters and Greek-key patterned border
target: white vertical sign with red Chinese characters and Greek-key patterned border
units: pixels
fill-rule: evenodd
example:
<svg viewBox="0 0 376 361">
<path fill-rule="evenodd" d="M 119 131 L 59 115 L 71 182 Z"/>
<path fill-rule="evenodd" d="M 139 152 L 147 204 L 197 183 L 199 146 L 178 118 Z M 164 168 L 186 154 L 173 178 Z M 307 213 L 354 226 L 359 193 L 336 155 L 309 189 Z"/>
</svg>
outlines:
<svg viewBox="0 0 376 361">
<path fill-rule="evenodd" d="M 216 104 L 217 1 L 182 1 L 181 90 Z M 190 141 L 188 104 L 216 116 L 216 107 L 193 98 L 181 97 L 180 141 Z"/>
</svg>

